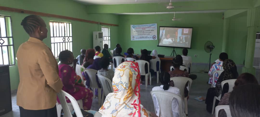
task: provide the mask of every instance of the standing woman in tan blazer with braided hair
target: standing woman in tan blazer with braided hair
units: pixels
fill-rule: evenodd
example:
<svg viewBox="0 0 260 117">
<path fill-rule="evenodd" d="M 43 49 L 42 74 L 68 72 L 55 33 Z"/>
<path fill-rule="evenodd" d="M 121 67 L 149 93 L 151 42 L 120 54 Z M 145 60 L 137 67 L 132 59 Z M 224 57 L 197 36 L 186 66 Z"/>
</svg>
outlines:
<svg viewBox="0 0 260 117">
<path fill-rule="evenodd" d="M 57 61 L 50 48 L 42 42 L 47 37 L 43 19 L 30 15 L 21 25 L 30 38 L 17 51 L 20 83 L 17 105 L 21 117 L 57 117 L 57 93 L 62 89 Z"/>
</svg>

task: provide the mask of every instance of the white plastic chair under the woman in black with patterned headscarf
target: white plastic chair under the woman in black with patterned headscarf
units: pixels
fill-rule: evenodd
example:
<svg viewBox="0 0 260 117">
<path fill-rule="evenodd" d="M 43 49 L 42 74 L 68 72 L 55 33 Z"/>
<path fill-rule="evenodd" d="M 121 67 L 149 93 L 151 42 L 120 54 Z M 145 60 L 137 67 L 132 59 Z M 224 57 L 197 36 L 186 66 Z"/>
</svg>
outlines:
<svg viewBox="0 0 260 117">
<path fill-rule="evenodd" d="M 224 86 L 225 83 L 228 83 L 228 86 L 229 86 L 229 88 L 228 88 L 228 93 L 229 93 L 229 92 L 232 92 L 232 91 L 233 91 L 233 87 L 235 86 L 235 81 L 236 81 L 236 80 L 237 80 L 237 79 L 231 79 L 231 80 L 222 81 L 222 82 L 221 82 L 221 89 L 223 89 L 223 86 Z M 214 99 L 213 99 L 212 112 L 211 112 L 212 115 L 213 115 L 213 113 L 214 113 L 214 107 L 215 107 L 216 100 L 219 100 L 219 101 L 220 101 L 220 98 L 221 98 L 221 94 L 220 94 L 218 97 L 215 96 Z"/>
</svg>

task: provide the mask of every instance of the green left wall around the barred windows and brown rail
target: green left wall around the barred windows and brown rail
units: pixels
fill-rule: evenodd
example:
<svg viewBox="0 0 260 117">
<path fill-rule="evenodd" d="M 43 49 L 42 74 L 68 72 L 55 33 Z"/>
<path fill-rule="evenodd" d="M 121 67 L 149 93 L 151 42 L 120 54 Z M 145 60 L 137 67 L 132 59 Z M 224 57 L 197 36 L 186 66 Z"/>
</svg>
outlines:
<svg viewBox="0 0 260 117">
<path fill-rule="evenodd" d="M 87 14 L 86 6 L 77 3 L 72 0 L 44 0 L 44 1 L 33 1 L 33 0 L 0 0 L 0 6 L 7 6 L 11 8 L 20 8 L 25 10 L 33 10 L 38 12 L 45 12 L 56 15 L 64 15 L 76 18 L 82 18 L 86 20 L 93 20 L 104 23 L 118 24 L 119 16 L 114 14 Z M 34 7 L 32 7 L 34 6 Z M 14 40 L 15 56 L 18 47 L 25 41 L 28 40 L 29 36 L 25 33 L 23 27 L 20 25 L 22 19 L 29 14 L 22 14 L 16 12 L 0 11 L 0 15 L 11 16 L 12 33 Z M 72 35 L 73 35 L 73 54 L 77 56 L 80 54 L 82 48 L 93 48 L 93 31 L 101 31 L 101 26 L 98 24 L 91 24 L 79 21 L 64 20 L 59 18 L 42 17 L 47 24 L 47 29 L 50 29 L 49 21 L 64 21 L 72 23 Z M 107 25 L 104 25 L 107 26 Z M 118 42 L 118 28 L 116 26 L 110 27 L 111 45 L 115 45 Z M 48 37 L 43 40 L 47 46 L 50 47 L 50 32 Z M 10 81 L 11 90 L 17 89 L 19 84 L 19 73 L 17 65 L 9 67 L 10 69 Z"/>
</svg>

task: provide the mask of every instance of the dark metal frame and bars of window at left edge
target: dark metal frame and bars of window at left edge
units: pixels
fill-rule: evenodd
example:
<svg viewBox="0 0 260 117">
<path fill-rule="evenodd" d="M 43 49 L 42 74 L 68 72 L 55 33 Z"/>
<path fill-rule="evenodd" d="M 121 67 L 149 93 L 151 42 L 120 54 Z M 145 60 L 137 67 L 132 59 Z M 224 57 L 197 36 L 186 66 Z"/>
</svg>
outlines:
<svg viewBox="0 0 260 117">
<path fill-rule="evenodd" d="M 1 54 L 2 54 L 2 62 L 3 64 L 2 65 L 9 65 L 10 66 L 15 66 L 15 54 L 14 54 L 14 36 L 13 36 L 13 30 L 12 30 L 12 19 L 11 19 L 11 16 L 7 16 L 7 15 L 0 15 L 0 17 L 4 17 L 4 23 L 5 23 L 5 37 L 2 37 L 2 34 L 1 34 L 1 24 L 0 24 L 0 47 L 1 47 Z M 5 17 L 9 17 L 10 18 L 10 33 L 11 33 L 11 36 L 8 36 L 7 34 L 7 26 L 6 24 L 8 24 L 8 22 L 6 21 L 6 18 Z M 12 44 L 7 44 L 7 45 L 3 45 L 5 43 L 5 41 L 2 39 L 2 38 L 6 38 L 7 39 L 7 42 L 9 41 L 9 38 L 11 38 L 11 43 Z M 2 40 L 1 40 L 2 39 Z M 3 41 L 3 43 L 1 44 L 1 41 Z M 6 47 L 7 48 L 7 55 L 8 55 L 8 64 L 4 64 L 4 54 L 3 54 L 3 47 Z M 9 47 L 11 47 L 12 51 L 9 50 Z M 10 55 L 12 54 L 12 61 L 13 61 L 13 64 L 10 64 Z"/>
</svg>

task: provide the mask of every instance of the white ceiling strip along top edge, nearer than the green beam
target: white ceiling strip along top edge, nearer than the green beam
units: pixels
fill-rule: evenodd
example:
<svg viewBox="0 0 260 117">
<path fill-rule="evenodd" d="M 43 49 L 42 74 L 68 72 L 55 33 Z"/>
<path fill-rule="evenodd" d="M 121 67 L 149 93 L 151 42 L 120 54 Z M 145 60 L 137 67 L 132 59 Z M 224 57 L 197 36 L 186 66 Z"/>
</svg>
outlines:
<svg viewBox="0 0 260 117">
<path fill-rule="evenodd" d="M 170 2 L 170 0 L 74 0 L 84 4 L 139 4 L 139 3 L 161 3 Z M 201 0 L 172 0 L 179 1 L 201 1 Z"/>
</svg>

